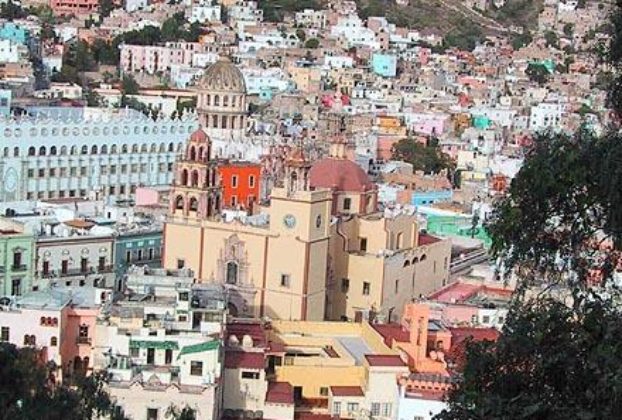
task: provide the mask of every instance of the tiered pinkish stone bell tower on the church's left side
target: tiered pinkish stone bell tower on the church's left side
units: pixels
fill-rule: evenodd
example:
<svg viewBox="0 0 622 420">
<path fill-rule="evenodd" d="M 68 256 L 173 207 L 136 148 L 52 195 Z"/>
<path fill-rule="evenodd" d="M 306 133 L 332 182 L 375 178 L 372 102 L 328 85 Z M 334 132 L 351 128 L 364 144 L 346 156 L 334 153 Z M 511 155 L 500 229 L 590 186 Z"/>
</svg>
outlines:
<svg viewBox="0 0 622 420">
<path fill-rule="evenodd" d="M 220 215 L 222 187 L 217 161 L 212 160 L 212 142 L 199 128 L 190 135 L 183 155 L 175 165 L 169 214 L 194 219 Z"/>
</svg>

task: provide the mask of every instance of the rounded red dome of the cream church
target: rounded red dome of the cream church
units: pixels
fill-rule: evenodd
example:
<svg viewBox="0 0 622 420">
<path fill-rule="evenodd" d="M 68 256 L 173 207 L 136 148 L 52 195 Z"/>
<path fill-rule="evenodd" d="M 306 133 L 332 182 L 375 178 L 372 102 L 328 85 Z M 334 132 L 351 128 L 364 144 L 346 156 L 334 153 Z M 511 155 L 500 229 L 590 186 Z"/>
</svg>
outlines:
<svg viewBox="0 0 622 420">
<path fill-rule="evenodd" d="M 312 188 L 336 191 L 365 192 L 375 188 L 369 176 L 348 159 L 325 158 L 311 167 L 309 184 Z"/>
</svg>

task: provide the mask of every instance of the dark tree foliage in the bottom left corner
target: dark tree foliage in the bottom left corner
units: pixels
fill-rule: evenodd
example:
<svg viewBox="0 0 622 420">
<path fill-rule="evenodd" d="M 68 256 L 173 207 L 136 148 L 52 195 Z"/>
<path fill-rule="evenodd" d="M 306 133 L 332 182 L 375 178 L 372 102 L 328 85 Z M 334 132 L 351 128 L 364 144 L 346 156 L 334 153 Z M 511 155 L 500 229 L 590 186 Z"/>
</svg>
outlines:
<svg viewBox="0 0 622 420">
<path fill-rule="evenodd" d="M 0 343 L 0 407 L 3 419 L 125 419 L 105 391 L 106 376 L 78 378 L 75 386 L 56 384 L 38 351 Z"/>
</svg>

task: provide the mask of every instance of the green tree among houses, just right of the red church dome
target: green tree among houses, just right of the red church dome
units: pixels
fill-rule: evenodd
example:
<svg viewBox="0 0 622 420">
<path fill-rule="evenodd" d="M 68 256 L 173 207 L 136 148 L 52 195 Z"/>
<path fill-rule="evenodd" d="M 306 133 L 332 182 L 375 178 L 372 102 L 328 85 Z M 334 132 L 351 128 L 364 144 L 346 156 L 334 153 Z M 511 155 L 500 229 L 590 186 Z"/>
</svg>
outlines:
<svg viewBox="0 0 622 420">
<path fill-rule="evenodd" d="M 453 170 L 451 158 L 441 151 L 438 140 L 432 138 L 422 144 L 412 137 L 400 140 L 393 146 L 393 158 L 413 165 L 413 170 L 437 174 Z"/>
</svg>

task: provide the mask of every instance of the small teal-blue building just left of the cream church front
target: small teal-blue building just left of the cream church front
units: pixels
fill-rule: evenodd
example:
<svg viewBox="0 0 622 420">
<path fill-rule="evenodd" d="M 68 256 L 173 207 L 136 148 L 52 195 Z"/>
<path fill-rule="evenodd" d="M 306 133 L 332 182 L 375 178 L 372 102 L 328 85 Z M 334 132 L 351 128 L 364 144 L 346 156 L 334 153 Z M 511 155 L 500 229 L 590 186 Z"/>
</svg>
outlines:
<svg viewBox="0 0 622 420">
<path fill-rule="evenodd" d="M 119 233 L 114 244 L 117 278 L 132 265 L 160 267 L 162 263 L 162 229 Z"/>
</svg>

